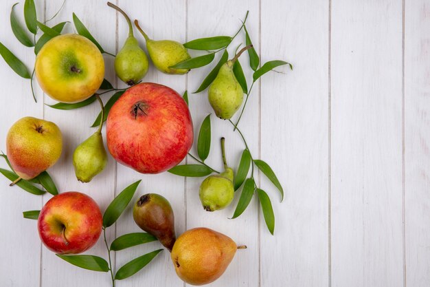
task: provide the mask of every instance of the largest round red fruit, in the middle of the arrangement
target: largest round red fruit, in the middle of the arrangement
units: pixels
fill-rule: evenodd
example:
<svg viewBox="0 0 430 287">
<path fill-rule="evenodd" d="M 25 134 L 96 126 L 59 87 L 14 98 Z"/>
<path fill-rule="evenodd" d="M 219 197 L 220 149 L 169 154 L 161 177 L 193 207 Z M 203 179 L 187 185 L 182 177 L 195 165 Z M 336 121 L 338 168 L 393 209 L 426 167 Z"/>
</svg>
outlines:
<svg viewBox="0 0 430 287">
<path fill-rule="evenodd" d="M 106 138 L 118 162 L 141 173 L 160 173 L 179 164 L 192 146 L 190 111 L 170 87 L 141 83 L 109 111 Z"/>
</svg>

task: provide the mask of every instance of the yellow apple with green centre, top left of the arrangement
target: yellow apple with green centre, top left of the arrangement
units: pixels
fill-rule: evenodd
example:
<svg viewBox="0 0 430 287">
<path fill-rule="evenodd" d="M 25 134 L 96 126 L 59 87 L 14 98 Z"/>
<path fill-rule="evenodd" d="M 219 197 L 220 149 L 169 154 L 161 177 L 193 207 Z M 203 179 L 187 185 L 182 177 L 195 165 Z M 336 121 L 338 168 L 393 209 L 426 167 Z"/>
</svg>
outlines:
<svg viewBox="0 0 430 287">
<path fill-rule="evenodd" d="M 98 47 L 78 34 L 56 36 L 36 56 L 36 78 L 43 91 L 63 103 L 78 103 L 102 85 L 104 61 Z"/>
</svg>

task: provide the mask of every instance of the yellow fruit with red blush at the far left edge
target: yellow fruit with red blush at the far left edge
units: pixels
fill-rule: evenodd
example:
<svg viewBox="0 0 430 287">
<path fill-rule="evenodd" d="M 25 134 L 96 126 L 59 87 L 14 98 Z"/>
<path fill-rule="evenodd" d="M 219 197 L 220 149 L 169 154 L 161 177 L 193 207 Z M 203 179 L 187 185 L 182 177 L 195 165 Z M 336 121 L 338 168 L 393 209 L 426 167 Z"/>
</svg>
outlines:
<svg viewBox="0 0 430 287">
<path fill-rule="evenodd" d="M 10 127 L 6 149 L 18 180 L 31 180 L 60 158 L 63 136 L 56 124 L 26 116 Z"/>
</svg>

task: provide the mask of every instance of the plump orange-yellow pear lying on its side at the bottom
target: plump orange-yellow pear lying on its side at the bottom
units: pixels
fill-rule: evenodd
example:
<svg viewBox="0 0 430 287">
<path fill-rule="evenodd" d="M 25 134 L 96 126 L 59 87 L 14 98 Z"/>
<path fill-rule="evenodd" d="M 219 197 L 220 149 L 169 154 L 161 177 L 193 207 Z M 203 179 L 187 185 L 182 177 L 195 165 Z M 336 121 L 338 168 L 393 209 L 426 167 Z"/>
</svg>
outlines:
<svg viewBox="0 0 430 287">
<path fill-rule="evenodd" d="M 192 285 L 209 284 L 223 275 L 238 248 L 230 237 L 209 228 L 193 228 L 176 240 L 172 261 L 177 275 Z"/>
</svg>

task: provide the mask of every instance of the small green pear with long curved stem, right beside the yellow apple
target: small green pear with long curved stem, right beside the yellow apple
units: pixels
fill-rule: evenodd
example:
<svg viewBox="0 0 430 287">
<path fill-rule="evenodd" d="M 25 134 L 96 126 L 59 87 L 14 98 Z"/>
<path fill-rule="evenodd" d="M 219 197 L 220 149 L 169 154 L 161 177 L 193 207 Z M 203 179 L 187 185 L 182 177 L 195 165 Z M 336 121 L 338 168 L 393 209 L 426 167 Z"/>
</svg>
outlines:
<svg viewBox="0 0 430 287">
<path fill-rule="evenodd" d="M 120 52 L 115 56 L 115 73 L 124 83 L 135 85 L 135 83 L 142 80 L 148 72 L 148 56 L 146 56 L 144 50 L 139 47 L 139 43 L 133 35 L 133 26 L 127 14 L 111 2 L 108 2 L 108 6 L 124 15 L 128 23 L 128 38 L 124 42 L 124 46 Z"/>
</svg>

